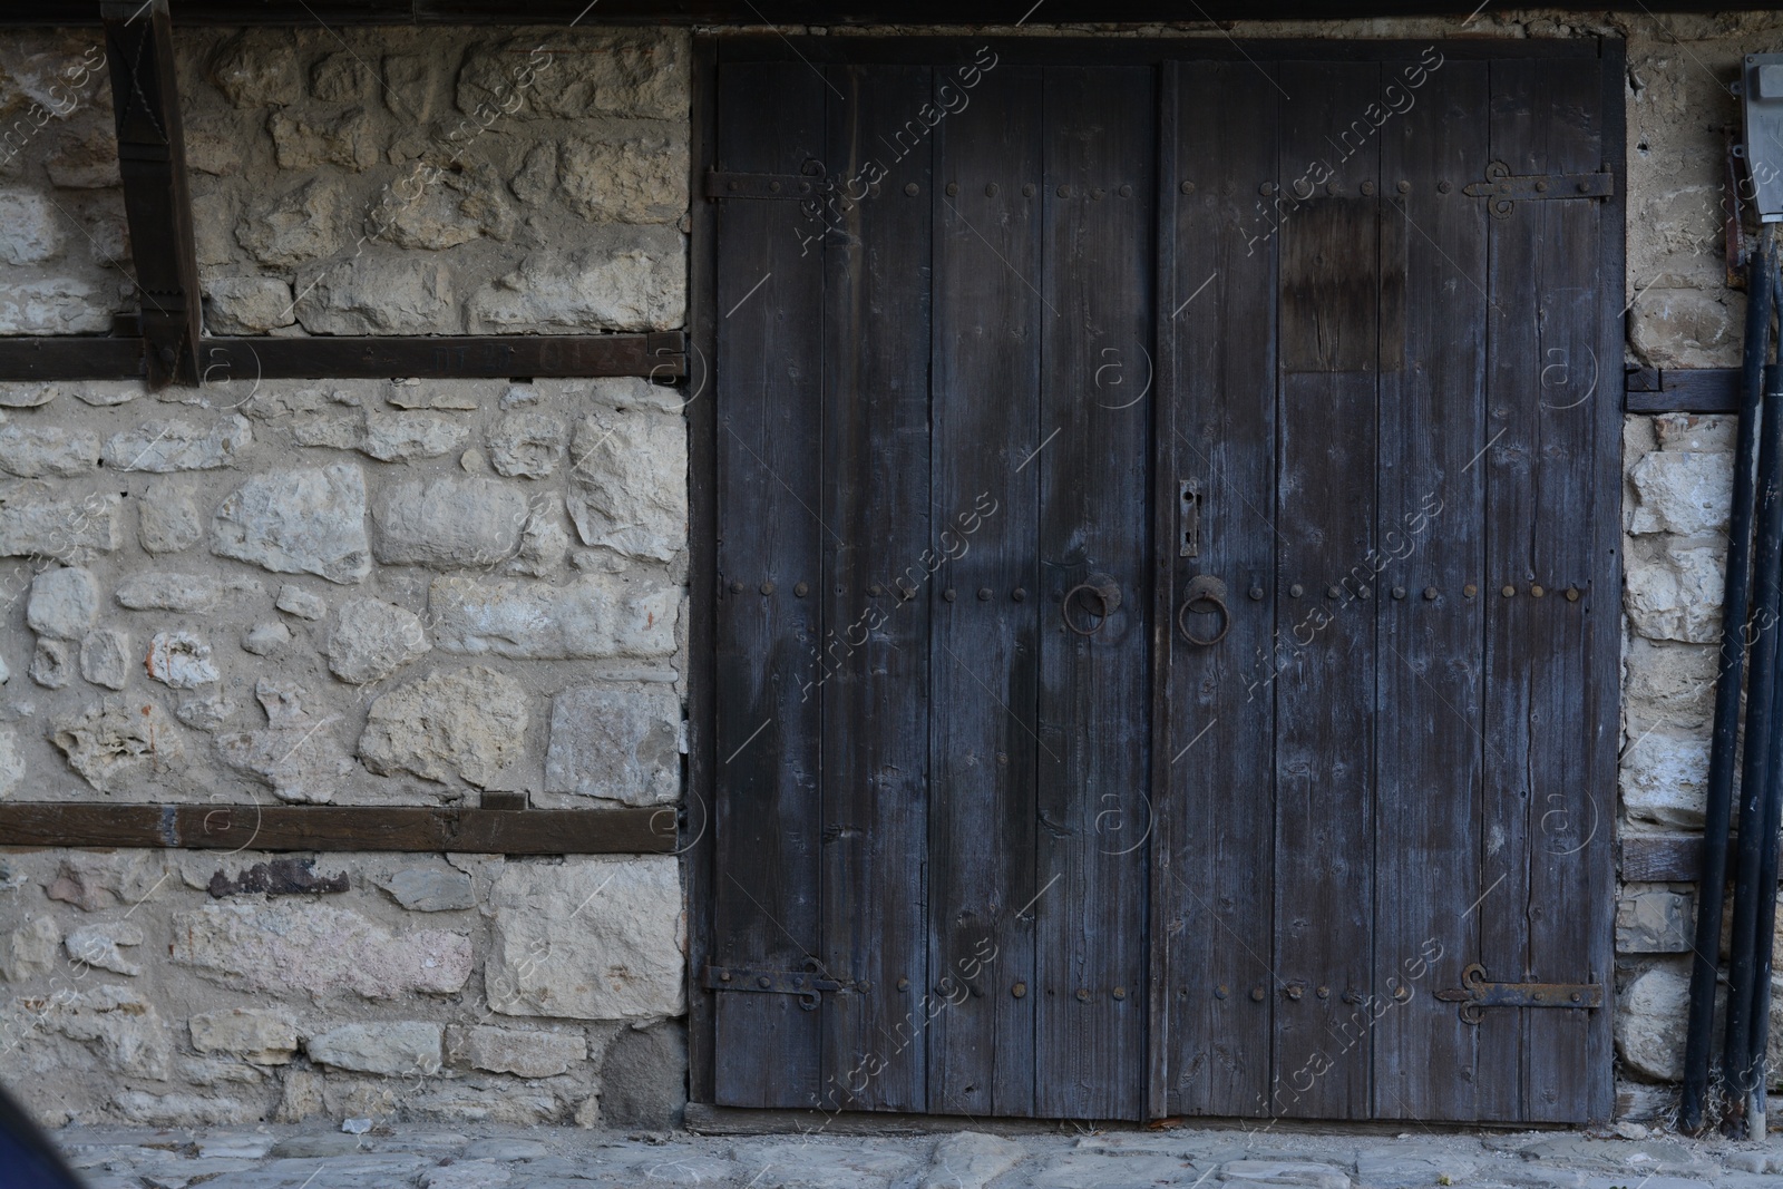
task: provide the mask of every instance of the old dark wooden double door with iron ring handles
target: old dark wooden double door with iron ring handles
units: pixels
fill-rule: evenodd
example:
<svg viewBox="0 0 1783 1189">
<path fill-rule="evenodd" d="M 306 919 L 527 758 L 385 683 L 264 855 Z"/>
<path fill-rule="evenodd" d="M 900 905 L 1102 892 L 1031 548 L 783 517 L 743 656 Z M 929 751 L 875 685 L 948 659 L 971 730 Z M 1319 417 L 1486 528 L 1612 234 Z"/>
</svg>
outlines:
<svg viewBox="0 0 1783 1189">
<path fill-rule="evenodd" d="M 711 1098 L 1605 1118 L 1619 46 L 804 48 L 704 176 Z"/>
</svg>

